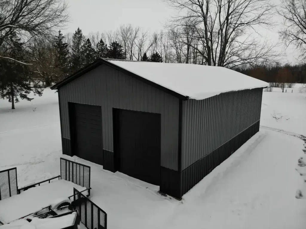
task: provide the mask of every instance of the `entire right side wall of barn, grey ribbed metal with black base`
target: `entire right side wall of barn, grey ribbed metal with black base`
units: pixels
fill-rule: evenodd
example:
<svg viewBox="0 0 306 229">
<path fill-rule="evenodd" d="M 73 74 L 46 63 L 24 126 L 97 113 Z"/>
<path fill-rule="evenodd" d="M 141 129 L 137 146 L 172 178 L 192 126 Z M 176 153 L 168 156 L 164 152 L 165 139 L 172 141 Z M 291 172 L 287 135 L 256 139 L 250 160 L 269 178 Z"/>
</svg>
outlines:
<svg viewBox="0 0 306 229">
<path fill-rule="evenodd" d="M 262 88 L 182 102 L 180 195 L 259 131 Z"/>
</svg>

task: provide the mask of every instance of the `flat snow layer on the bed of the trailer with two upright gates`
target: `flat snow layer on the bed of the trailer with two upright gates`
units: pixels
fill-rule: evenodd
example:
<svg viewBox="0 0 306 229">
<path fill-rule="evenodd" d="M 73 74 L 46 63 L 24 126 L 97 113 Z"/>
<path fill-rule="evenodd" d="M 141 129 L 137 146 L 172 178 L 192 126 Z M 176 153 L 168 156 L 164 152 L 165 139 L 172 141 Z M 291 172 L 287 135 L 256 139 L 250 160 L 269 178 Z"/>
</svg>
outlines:
<svg viewBox="0 0 306 229">
<path fill-rule="evenodd" d="M 20 219 L 30 213 L 35 213 L 50 205 L 55 201 L 68 198 L 73 195 L 73 188 L 84 191 L 87 188 L 81 187 L 66 180 L 57 180 L 45 185 L 30 188 L 21 194 L 14 195 L 0 201 L 0 221 L 9 223 Z M 88 195 L 88 190 L 83 192 Z"/>
</svg>

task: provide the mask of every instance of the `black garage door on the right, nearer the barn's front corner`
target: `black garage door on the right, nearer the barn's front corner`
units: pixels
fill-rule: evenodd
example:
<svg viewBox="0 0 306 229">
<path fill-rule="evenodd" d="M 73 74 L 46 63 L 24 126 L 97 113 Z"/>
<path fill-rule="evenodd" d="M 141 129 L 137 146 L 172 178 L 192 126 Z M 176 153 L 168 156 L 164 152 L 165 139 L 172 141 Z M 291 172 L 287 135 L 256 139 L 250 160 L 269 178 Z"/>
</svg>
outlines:
<svg viewBox="0 0 306 229">
<path fill-rule="evenodd" d="M 120 172 L 160 183 L 160 114 L 114 109 Z M 116 152 L 117 153 L 117 152 Z"/>
</svg>

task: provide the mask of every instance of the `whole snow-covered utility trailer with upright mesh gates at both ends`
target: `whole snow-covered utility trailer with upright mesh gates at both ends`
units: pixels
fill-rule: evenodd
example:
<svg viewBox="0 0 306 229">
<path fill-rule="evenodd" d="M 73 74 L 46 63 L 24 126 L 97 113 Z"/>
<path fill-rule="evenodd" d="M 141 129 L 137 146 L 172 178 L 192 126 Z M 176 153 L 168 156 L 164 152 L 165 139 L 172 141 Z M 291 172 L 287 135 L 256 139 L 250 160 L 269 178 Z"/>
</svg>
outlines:
<svg viewBox="0 0 306 229">
<path fill-rule="evenodd" d="M 53 212 L 73 202 L 73 189 L 90 195 L 90 167 L 64 158 L 61 175 L 17 186 L 17 168 L 0 171 L 0 225 L 31 215 Z"/>
</svg>

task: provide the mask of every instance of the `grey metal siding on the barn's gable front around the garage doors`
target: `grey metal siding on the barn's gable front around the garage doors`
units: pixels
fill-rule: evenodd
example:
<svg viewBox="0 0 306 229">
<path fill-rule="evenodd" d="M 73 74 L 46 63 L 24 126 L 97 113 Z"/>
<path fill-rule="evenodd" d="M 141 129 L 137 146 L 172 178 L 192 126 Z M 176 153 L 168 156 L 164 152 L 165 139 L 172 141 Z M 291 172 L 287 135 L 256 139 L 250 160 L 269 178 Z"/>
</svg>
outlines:
<svg viewBox="0 0 306 229">
<path fill-rule="evenodd" d="M 161 166 L 177 171 L 178 98 L 105 64 L 60 87 L 58 91 L 63 142 L 70 139 L 68 102 L 101 106 L 103 150 L 108 151 L 107 158 L 113 156 L 110 155 L 113 152 L 113 107 L 160 113 Z"/>
</svg>

